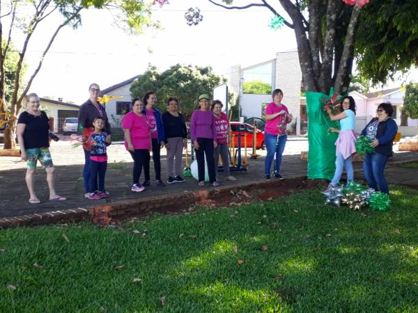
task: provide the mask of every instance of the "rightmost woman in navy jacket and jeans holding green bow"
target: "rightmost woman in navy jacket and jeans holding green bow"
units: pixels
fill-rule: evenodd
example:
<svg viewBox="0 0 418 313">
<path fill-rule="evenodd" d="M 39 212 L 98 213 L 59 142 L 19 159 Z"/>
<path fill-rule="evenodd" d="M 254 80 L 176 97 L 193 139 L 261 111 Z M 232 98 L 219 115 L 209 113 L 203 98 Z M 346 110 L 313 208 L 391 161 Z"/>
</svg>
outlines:
<svg viewBox="0 0 418 313">
<path fill-rule="evenodd" d="M 379 104 L 377 113 L 378 117 L 372 118 L 362 131 L 362 136 L 368 136 L 375 148 L 375 152 L 364 155 L 363 172 L 370 188 L 389 194 L 384 172 L 387 160 L 393 155 L 392 145 L 398 125 L 391 118 L 394 108 L 389 102 Z"/>
</svg>

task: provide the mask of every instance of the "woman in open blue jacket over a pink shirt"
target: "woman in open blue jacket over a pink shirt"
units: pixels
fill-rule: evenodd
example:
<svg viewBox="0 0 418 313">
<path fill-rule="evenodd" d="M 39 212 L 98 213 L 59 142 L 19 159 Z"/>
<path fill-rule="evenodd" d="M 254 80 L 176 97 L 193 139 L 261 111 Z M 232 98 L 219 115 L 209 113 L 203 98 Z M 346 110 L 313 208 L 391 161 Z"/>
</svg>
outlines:
<svg viewBox="0 0 418 313">
<path fill-rule="evenodd" d="M 155 170 L 155 184 L 157 187 L 164 187 L 165 184 L 161 180 L 161 161 L 160 161 L 160 149 L 165 145 L 164 125 L 162 123 L 161 113 L 155 108 L 157 103 L 157 96 L 153 91 L 148 91 L 144 95 L 144 111 L 146 120 L 150 125 L 153 161 Z M 148 161 L 144 164 L 145 181 L 144 186 L 150 186 L 150 157 L 148 154 Z"/>
</svg>

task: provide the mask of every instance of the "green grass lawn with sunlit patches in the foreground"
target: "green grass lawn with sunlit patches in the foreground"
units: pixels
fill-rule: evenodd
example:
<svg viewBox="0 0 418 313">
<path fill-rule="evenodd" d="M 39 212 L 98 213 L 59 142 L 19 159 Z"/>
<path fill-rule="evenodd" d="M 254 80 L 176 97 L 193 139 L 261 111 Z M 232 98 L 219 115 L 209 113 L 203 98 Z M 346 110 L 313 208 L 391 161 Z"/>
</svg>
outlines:
<svg viewBox="0 0 418 313">
<path fill-rule="evenodd" d="M 0 312 L 418 312 L 418 191 L 323 200 L 1 230 Z"/>
</svg>

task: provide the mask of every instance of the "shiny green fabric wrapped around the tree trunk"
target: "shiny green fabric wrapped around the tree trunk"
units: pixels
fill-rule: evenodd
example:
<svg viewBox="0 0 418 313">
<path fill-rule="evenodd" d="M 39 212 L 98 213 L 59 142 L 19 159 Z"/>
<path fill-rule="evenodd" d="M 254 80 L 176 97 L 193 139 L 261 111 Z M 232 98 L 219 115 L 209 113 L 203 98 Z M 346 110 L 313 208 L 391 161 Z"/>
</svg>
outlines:
<svg viewBox="0 0 418 313">
<path fill-rule="evenodd" d="M 328 118 L 323 111 L 323 99 L 330 96 L 324 93 L 307 92 L 308 113 L 308 178 L 329 179 L 335 172 L 335 141 L 338 134 L 328 131 L 328 128 L 339 128 L 339 122 Z"/>
</svg>

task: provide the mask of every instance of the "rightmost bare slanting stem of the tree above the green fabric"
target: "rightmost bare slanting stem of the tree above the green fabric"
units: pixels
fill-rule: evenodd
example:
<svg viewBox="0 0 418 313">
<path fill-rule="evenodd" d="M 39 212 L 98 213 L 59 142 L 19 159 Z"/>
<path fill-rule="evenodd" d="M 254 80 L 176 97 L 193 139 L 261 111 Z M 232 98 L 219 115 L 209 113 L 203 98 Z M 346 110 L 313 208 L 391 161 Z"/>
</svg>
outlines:
<svg viewBox="0 0 418 313">
<path fill-rule="evenodd" d="M 344 77 L 347 74 L 348 67 L 350 66 L 350 58 L 353 58 L 354 50 L 354 31 L 355 26 L 359 20 L 360 8 L 354 6 L 353 12 L 351 13 L 350 24 L 347 27 L 346 34 L 346 43 L 343 49 L 343 55 L 341 56 L 341 61 L 339 65 L 338 73 L 336 74 L 335 84 L 334 84 L 334 94 L 339 95 L 343 90 Z"/>
</svg>

